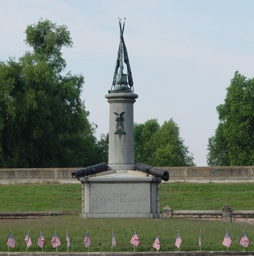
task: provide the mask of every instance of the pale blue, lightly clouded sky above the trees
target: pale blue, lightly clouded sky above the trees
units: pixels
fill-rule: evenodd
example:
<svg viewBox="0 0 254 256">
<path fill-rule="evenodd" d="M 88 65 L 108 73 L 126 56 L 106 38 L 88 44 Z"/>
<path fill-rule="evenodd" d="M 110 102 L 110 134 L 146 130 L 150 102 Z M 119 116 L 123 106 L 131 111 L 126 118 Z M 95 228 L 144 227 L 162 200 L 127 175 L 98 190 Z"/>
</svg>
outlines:
<svg viewBox="0 0 254 256">
<path fill-rule="evenodd" d="M 134 92 L 134 122 L 173 118 L 197 166 L 207 166 L 208 139 L 218 126 L 235 71 L 254 77 L 252 0 L 0 0 L 0 61 L 31 50 L 28 24 L 65 24 L 73 40 L 63 48 L 65 72 L 82 74 L 82 100 L 97 138 L 109 132 L 109 103 L 119 46 L 118 18 L 126 18 Z M 126 67 L 124 66 L 124 71 Z"/>
</svg>

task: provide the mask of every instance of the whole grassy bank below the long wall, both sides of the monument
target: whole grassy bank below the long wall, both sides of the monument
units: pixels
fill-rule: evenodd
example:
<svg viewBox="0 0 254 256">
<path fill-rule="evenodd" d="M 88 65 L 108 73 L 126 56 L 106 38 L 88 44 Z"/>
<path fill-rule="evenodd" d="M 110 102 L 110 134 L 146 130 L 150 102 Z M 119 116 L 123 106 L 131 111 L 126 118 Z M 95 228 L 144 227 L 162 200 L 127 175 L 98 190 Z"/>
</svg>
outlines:
<svg viewBox="0 0 254 256">
<path fill-rule="evenodd" d="M 81 212 L 81 184 L 0 185 L 0 211 L 77 210 Z M 160 211 L 254 209 L 254 183 L 160 184 Z"/>
</svg>

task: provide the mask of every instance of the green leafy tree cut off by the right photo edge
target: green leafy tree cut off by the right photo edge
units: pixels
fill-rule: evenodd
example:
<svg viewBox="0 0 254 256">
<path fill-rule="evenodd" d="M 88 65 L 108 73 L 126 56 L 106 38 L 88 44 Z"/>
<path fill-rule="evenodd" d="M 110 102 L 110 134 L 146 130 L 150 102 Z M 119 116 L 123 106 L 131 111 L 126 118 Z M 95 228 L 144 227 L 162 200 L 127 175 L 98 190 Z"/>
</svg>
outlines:
<svg viewBox="0 0 254 256">
<path fill-rule="evenodd" d="M 210 166 L 254 164 L 254 80 L 235 72 L 224 104 L 217 106 L 219 124 L 209 138 Z"/>
</svg>

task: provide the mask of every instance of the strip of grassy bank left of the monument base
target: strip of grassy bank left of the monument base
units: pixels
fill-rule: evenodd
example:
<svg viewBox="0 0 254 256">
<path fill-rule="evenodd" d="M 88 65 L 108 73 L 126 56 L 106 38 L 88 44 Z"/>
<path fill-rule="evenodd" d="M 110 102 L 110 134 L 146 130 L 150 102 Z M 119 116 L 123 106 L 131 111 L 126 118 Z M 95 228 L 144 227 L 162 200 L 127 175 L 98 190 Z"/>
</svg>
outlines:
<svg viewBox="0 0 254 256">
<path fill-rule="evenodd" d="M 77 210 L 81 212 L 80 184 L 0 185 L 0 211 Z"/>
</svg>

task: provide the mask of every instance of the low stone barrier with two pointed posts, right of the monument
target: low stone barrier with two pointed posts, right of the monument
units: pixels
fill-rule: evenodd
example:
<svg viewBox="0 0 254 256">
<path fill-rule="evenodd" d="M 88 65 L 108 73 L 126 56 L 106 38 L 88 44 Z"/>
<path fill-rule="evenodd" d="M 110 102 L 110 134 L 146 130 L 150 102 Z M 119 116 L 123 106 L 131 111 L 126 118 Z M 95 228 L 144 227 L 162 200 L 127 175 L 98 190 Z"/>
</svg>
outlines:
<svg viewBox="0 0 254 256">
<path fill-rule="evenodd" d="M 254 223 L 254 210 L 231 210 L 224 205 L 222 210 L 172 210 L 168 205 L 163 209 L 163 218 L 188 218 L 192 220 L 222 220 L 229 222 Z"/>
</svg>

